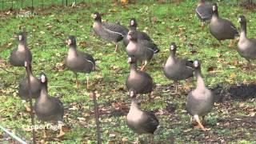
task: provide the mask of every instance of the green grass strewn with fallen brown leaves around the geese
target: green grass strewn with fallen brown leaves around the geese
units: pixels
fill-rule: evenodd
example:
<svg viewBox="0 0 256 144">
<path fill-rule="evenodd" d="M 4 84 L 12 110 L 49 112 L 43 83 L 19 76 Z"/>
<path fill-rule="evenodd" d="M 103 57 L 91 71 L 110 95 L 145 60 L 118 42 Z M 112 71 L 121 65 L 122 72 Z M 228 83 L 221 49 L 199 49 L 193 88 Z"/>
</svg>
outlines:
<svg viewBox="0 0 256 144">
<path fill-rule="evenodd" d="M 134 133 L 126 126 L 125 116 L 129 110 L 130 99 L 124 85 L 129 74 L 129 65 L 125 47 L 120 43 L 118 53 L 114 53 L 114 44 L 102 41 L 91 28 L 93 24 L 90 14 L 99 11 L 102 18 L 110 22 L 121 22 L 127 26 L 131 17 L 138 19 L 139 30 L 146 30 L 161 49 L 147 67 L 147 73 L 154 78 L 153 102 L 142 100 L 142 108 L 156 112 L 162 128 L 155 134 L 155 142 L 169 143 L 174 139 L 177 143 L 201 142 L 255 142 L 255 98 L 234 99 L 215 103 L 214 109 L 206 117 L 206 127 L 211 130 L 202 132 L 194 129 L 190 116 L 185 110 L 186 94 L 195 87 L 194 81 L 181 82 L 181 94 L 170 94 L 168 86 L 172 84 L 162 73 L 162 66 L 169 56 L 170 42 L 178 45 L 178 56 L 198 59 L 202 62 L 207 86 L 221 90 L 237 84 L 254 84 L 254 70 L 242 68 L 246 61 L 234 48 L 228 48 L 229 41 L 216 46 L 218 41 L 199 26 L 194 16 L 195 2 L 180 3 L 139 2 L 125 7 L 111 3 L 87 3 L 76 8 L 55 7 L 35 11 L 33 18 L 16 18 L 15 14 L 1 14 L 0 21 L 0 62 L 5 70 L 0 71 L 0 125 L 12 130 L 19 137 L 29 140 L 30 132 L 22 130 L 22 126 L 30 125 L 30 114 L 25 110 L 18 98 L 18 83 L 25 77 L 24 68 L 10 66 L 10 51 L 17 46 L 14 34 L 19 27 L 26 26 L 28 31 L 28 47 L 33 53 L 33 71 L 38 76 L 42 71 L 49 78 L 49 93 L 58 97 L 65 106 L 65 123 L 69 127 L 63 138 L 56 138 L 57 132 L 49 131 L 50 143 L 96 143 L 96 126 L 94 122 L 94 105 L 90 91 L 86 90 L 86 75 L 79 74 L 82 83 L 74 88 L 74 74 L 63 66 L 68 48 L 63 44 L 67 35 L 77 36 L 78 49 L 86 51 L 98 59 L 100 71 L 90 74 L 90 82 L 98 91 L 102 122 L 102 138 L 104 143 L 121 141 L 134 142 Z M 145 12 L 147 11 L 147 13 Z M 230 6 L 219 2 L 219 13 L 222 18 L 229 18 L 239 27 L 238 15 L 244 14 L 250 20 L 248 37 L 256 34 L 256 14 L 238 6 Z M 193 43 L 192 54 L 188 43 Z M 227 88 L 226 88 L 227 87 Z M 173 91 L 173 87 L 171 87 Z M 243 95 L 241 95 L 242 97 Z M 243 103 L 243 105 L 242 105 Z M 240 118 L 242 120 L 234 120 Z M 37 119 L 36 119 L 37 120 Z M 36 121 L 39 124 L 38 120 Z M 3 137 L 0 132 L 0 141 Z M 146 139 L 146 136 L 142 136 Z M 75 140 L 74 140 L 75 139 Z M 3 140 L 3 139 L 2 139 Z M 37 131 L 38 142 L 42 140 L 42 131 Z"/>
</svg>

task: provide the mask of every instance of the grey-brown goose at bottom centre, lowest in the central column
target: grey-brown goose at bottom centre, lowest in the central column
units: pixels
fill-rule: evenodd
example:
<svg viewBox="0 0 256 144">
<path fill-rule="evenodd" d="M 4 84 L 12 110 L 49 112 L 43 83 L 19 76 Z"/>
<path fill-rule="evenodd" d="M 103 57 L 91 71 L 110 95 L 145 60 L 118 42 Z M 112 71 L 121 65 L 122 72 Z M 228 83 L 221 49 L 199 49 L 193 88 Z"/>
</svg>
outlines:
<svg viewBox="0 0 256 144">
<path fill-rule="evenodd" d="M 158 129 L 158 118 L 151 111 L 141 110 L 136 100 L 136 90 L 130 90 L 130 110 L 126 116 L 126 123 L 137 134 L 150 134 L 150 143 L 154 141 L 154 131 Z M 138 138 L 137 141 L 138 143 Z"/>
</svg>

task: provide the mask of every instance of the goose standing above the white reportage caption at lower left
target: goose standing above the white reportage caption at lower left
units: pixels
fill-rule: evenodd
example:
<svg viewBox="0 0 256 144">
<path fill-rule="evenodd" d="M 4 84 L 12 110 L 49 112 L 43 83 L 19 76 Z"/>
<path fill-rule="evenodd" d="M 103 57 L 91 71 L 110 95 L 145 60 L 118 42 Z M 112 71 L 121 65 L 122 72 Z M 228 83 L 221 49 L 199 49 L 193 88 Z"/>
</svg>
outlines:
<svg viewBox="0 0 256 144">
<path fill-rule="evenodd" d="M 65 133 L 62 131 L 64 108 L 62 102 L 58 98 L 50 97 L 48 94 L 46 74 L 40 75 L 41 93 L 39 98 L 34 103 L 34 111 L 38 119 L 42 122 L 58 122 L 60 129 L 58 138 Z M 44 130 L 44 138 L 46 138 L 46 131 Z"/>
</svg>

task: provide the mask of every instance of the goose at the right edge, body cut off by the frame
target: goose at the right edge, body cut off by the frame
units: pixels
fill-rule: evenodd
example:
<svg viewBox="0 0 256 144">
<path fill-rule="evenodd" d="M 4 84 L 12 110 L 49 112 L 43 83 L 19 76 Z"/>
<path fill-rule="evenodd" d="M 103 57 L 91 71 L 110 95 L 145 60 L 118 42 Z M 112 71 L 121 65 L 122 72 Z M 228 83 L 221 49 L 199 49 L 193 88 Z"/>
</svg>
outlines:
<svg viewBox="0 0 256 144">
<path fill-rule="evenodd" d="M 241 15 L 238 18 L 238 21 L 241 24 L 241 34 L 238 42 L 238 53 L 243 57 L 246 58 L 248 61 L 249 69 L 250 66 L 250 59 L 256 58 L 256 39 L 255 38 L 247 38 L 246 36 L 246 17 Z"/>
</svg>

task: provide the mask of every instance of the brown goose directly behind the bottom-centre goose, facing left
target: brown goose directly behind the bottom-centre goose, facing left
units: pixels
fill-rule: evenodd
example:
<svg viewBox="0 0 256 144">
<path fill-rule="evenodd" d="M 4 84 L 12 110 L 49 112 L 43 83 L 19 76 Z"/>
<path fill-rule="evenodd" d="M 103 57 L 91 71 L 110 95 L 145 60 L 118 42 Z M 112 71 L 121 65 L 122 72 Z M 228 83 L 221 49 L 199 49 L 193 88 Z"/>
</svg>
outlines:
<svg viewBox="0 0 256 144">
<path fill-rule="evenodd" d="M 128 58 L 130 63 L 130 74 L 126 79 L 127 90 L 136 90 L 137 94 L 149 94 L 153 90 L 153 79 L 144 71 L 137 70 L 137 61 L 134 56 Z"/>
</svg>

